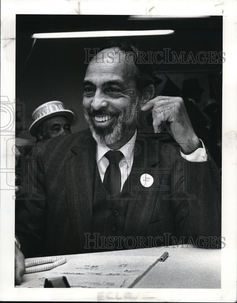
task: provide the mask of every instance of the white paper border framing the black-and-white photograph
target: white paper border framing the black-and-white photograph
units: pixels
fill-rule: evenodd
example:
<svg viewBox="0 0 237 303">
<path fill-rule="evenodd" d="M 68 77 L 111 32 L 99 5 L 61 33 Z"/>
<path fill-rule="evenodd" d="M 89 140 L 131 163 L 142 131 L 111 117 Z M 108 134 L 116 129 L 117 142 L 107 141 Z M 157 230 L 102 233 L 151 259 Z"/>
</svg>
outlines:
<svg viewBox="0 0 237 303">
<path fill-rule="evenodd" d="M 116 9 L 115 9 L 116 8 Z M 237 255 L 237 3 L 236 1 L 90 1 L 90 0 L 1 0 L 1 103 L 15 100 L 15 16 L 16 14 L 108 14 L 114 15 L 222 15 L 223 64 L 222 95 L 222 249 L 221 289 L 133 289 L 143 291 L 143 299 L 123 301 L 180 301 L 234 302 L 236 301 Z M 7 98 L 6 98 L 7 97 Z M 3 117 L 3 112 L 1 116 Z M 1 119 L 1 130 L 8 121 Z M 13 125 L 14 126 L 14 125 Z M 1 204 L 0 204 L 0 300 L 1 301 L 97 301 L 101 289 L 41 289 L 14 288 L 14 221 L 15 158 L 8 153 L 12 131 L 1 132 Z M 14 141 L 13 141 L 14 142 Z M 7 180 L 7 181 L 6 181 Z M 119 292 L 126 289 L 110 289 Z M 112 300 L 116 301 L 116 300 Z"/>
</svg>

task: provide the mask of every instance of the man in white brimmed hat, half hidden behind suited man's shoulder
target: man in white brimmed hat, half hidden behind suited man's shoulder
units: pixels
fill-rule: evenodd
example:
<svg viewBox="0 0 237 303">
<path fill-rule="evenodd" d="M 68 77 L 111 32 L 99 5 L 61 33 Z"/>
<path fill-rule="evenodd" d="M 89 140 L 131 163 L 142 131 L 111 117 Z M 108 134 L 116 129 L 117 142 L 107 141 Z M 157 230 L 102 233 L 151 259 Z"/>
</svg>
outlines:
<svg viewBox="0 0 237 303">
<path fill-rule="evenodd" d="M 60 101 L 50 101 L 37 107 L 32 114 L 29 131 L 38 141 L 71 134 L 74 113 Z"/>
</svg>

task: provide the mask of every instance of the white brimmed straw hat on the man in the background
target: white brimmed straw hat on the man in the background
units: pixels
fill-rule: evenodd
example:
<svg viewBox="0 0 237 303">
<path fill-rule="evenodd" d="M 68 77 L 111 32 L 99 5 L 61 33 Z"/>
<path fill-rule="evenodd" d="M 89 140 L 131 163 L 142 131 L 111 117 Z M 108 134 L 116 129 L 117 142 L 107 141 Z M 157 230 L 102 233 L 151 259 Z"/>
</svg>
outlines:
<svg viewBox="0 0 237 303">
<path fill-rule="evenodd" d="M 36 128 L 40 123 L 45 119 L 58 115 L 67 117 L 69 122 L 72 122 L 74 117 L 74 113 L 69 109 L 65 109 L 64 104 L 60 101 L 50 101 L 37 107 L 32 114 L 33 123 L 29 128 L 30 134 L 36 137 Z"/>
</svg>

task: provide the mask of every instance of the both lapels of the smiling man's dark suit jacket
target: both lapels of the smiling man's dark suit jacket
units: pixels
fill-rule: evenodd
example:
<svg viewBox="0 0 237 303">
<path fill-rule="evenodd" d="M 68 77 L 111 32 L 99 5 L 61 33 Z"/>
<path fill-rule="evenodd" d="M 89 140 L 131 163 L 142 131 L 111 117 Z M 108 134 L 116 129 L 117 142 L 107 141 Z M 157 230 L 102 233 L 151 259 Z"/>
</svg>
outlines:
<svg viewBox="0 0 237 303">
<path fill-rule="evenodd" d="M 144 234 L 157 200 L 162 174 L 157 174 L 156 143 L 150 141 L 138 137 L 135 143 L 140 146 L 140 153 L 134 155 L 130 173 L 129 182 L 134 196 L 130 196 L 132 198 L 128 204 L 124 236 Z M 92 230 L 96 144 L 91 137 L 84 138 L 83 146 L 75 145 L 72 153 L 65 168 L 69 215 L 77 251 L 89 252 L 84 248 L 84 234 L 91 233 Z M 140 177 L 144 173 L 150 174 L 154 179 L 149 188 L 141 185 Z"/>
</svg>

